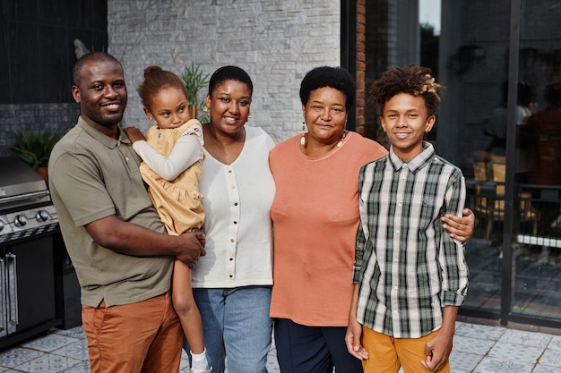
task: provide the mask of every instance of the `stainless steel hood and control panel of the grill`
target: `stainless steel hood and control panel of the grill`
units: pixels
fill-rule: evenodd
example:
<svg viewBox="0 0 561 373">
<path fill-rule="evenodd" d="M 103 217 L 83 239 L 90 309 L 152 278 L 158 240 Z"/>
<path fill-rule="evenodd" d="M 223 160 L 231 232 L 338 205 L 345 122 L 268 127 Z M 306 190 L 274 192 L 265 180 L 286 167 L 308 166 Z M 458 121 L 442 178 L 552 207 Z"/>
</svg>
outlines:
<svg viewBox="0 0 561 373">
<path fill-rule="evenodd" d="M 47 185 L 17 157 L 0 157 L 0 245 L 55 232 L 58 216 Z"/>
</svg>

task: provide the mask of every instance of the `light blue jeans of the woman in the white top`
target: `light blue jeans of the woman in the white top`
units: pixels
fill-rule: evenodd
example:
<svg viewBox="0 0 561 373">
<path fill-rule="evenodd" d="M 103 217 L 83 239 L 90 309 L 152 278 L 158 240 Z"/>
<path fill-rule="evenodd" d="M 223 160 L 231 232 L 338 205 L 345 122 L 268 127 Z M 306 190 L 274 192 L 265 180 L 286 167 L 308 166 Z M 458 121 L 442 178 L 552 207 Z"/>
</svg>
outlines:
<svg viewBox="0 0 561 373">
<path fill-rule="evenodd" d="M 267 373 L 271 349 L 271 286 L 233 289 L 193 289 L 203 318 L 206 357 L 212 373 L 223 373 L 228 356 L 229 373 Z M 189 346 L 184 338 L 184 348 Z M 190 354 L 189 354 L 190 356 Z"/>
</svg>

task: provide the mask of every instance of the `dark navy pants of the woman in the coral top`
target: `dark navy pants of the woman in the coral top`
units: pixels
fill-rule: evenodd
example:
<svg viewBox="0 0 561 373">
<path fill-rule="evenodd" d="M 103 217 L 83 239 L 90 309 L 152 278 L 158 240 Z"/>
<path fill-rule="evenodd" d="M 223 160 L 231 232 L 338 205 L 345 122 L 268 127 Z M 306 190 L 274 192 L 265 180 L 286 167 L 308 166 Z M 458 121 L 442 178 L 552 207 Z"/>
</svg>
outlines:
<svg viewBox="0 0 561 373">
<path fill-rule="evenodd" d="M 277 318 L 274 326 L 280 373 L 362 373 L 347 351 L 345 326 L 304 326 Z"/>
</svg>

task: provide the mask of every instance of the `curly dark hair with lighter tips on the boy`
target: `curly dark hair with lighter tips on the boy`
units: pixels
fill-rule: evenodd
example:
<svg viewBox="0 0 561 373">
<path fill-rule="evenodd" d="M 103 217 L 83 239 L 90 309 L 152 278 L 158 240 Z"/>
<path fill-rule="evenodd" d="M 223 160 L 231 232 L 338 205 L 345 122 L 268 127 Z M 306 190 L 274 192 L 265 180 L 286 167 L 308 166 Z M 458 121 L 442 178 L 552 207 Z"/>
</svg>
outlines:
<svg viewBox="0 0 561 373">
<path fill-rule="evenodd" d="M 435 115 L 443 92 L 444 86 L 435 81 L 429 68 L 410 64 L 384 72 L 380 79 L 372 83 L 370 98 L 375 103 L 378 114 L 383 115 L 386 101 L 397 94 L 408 93 L 425 98 L 428 115 Z"/>
</svg>

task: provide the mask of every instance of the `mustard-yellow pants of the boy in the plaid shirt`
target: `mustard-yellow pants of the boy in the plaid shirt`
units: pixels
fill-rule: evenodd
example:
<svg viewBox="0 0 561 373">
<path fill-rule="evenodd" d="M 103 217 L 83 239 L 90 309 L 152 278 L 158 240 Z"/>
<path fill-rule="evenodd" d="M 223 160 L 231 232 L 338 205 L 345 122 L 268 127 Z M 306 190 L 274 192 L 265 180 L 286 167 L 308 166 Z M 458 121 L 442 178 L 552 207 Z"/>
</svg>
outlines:
<svg viewBox="0 0 561 373">
<path fill-rule="evenodd" d="M 422 366 L 426 360 L 425 344 L 438 331 L 421 338 L 393 338 L 362 326 L 362 345 L 368 352 L 368 360 L 362 361 L 365 373 L 398 373 L 403 367 L 405 373 L 430 372 Z M 450 373 L 450 361 L 446 361 L 438 373 Z"/>
</svg>

